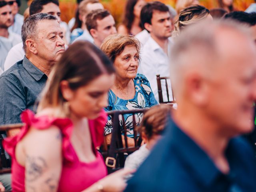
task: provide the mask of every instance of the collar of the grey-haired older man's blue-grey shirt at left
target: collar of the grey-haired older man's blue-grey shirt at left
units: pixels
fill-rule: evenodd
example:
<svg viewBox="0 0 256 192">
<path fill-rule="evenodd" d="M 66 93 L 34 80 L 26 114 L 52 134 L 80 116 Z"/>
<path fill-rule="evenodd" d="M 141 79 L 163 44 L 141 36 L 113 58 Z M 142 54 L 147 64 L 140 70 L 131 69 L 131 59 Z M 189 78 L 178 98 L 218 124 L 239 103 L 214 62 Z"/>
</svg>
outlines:
<svg viewBox="0 0 256 192">
<path fill-rule="evenodd" d="M 40 69 L 34 66 L 34 64 L 32 64 L 32 62 L 30 62 L 26 56 L 23 58 L 22 65 L 36 81 L 39 81 L 45 75 Z"/>
</svg>

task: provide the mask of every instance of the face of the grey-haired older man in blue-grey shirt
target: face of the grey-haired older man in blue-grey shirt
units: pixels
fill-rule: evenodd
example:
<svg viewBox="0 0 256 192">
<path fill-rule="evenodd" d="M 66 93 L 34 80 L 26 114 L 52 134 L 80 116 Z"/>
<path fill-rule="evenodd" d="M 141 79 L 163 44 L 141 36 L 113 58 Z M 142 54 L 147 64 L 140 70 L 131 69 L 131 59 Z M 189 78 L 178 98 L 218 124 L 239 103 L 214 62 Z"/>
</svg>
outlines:
<svg viewBox="0 0 256 192">
<path fill-rule="evenodd" d="M 37 24 L 34 39 L 37 55 L 46 62 L 56 63 L 65 50 L 63 32 L 57 20 L 42 20 Z"/>
</svg>

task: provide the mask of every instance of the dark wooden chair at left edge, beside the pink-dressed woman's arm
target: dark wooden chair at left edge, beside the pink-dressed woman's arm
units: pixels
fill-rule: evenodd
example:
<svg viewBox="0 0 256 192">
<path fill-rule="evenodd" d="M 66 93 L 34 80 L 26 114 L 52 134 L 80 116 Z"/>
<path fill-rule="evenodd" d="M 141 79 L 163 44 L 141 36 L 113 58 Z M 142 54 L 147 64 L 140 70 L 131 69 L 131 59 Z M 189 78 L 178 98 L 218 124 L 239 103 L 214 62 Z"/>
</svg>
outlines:
<svg viewBox="0 0 256 192">
<path fill-rule="evenodd" d="M 5 156 L 4 148 L 2 145 L 2 141 L 4 138 L 2 134 L 6 134 L 7 136 L 14 136 L 20 132 L 20 129 L 24 126 L 24 124 L 8 124 L 0 126 L 0 147 L 1 147 L 1 158 L 0 158 L 0 174 L 10 173 L 11 172 L 11 164 L 10 159 L 7 159 Z"/>
</svg>

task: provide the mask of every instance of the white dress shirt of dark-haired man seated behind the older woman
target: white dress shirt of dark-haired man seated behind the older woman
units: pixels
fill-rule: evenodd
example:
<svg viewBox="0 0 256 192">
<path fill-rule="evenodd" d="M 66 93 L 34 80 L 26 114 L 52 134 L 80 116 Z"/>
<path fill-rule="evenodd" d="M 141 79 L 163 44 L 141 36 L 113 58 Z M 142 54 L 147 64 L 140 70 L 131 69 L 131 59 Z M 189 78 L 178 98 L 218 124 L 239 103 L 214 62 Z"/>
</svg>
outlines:
<svg viewBox="0 0 256 192">
<path fill-rule="evenodd" d="M 172 41 L 168 39 L 168 52 L 172 46 Z M 148 41 L 142 47 L 141 51 L 141 62 L 138 68 L 138 73 L 144 74 L 150 82 L 151 89 L 154 93 L 156 100 L 159 102 L 158 88 L 156 75 L 160 77 L 170 76 L 170 58 L 159 46 L 159 44 L 150 36 Z M 172 101 L 172 88 L 170 80 L 167 80 L 169 100 Z M 165 81 L 161 81 L 163 100 L 168 101 Z"/>
</svg>

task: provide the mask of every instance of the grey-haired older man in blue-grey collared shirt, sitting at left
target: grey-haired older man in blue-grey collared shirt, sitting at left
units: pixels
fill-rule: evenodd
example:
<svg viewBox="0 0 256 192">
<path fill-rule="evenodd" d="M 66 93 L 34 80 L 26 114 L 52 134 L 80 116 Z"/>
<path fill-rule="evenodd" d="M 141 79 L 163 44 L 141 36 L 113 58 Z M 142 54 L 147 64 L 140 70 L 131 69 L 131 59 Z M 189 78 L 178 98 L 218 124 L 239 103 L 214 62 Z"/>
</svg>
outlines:
<svg viewBox="0 0 256 192">
<path fill-rule="evenodd" d="M 34 105 L 52 66 L 64 52 L 63 32 L 55 16 L 38 13 L 22 26 L 24 59 L 0 76 L 0 124 L 21 122 L 25 109 Z"/>
</svg>

